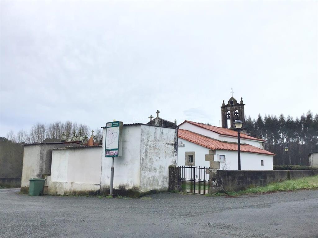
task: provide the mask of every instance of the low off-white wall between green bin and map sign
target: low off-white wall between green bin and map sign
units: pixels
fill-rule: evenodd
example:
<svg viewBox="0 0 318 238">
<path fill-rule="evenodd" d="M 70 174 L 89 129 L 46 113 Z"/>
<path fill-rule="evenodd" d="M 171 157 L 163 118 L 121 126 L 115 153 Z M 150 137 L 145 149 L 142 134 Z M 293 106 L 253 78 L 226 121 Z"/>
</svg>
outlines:
<svg viewBox="0 0 318 238">
<path fill-rule="evenodd" d="M 49 194 L 88 194 L 100 189 L 101 147 L 57 149 L 52 152 Z"/>
</svg>

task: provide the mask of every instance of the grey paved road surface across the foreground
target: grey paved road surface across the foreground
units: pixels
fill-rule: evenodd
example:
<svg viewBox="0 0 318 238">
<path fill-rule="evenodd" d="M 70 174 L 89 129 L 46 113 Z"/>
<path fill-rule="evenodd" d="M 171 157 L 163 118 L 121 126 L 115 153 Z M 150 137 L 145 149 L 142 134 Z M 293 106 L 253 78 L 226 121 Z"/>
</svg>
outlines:
<svg viewBox="0 0 318 238">
<path fill-rule="evenodd" d="M 0 190 L 1 237 L 317 237 L 317 191 L 148 199 Z"/>
</svg>

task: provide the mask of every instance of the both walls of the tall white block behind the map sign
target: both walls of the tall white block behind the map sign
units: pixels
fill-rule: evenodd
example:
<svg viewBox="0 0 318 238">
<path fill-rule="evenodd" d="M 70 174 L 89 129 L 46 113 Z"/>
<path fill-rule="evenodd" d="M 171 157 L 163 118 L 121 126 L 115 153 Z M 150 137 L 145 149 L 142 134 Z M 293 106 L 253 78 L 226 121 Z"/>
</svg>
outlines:
<svg viewBox="0 0 318 238">
<path fill-rule="evenodd" d="M 105 128 L 103 135 L 105 138 Z M 176 164 L 176 143 L 175 128 L 124 125 L 122 157 L 114 158 L 114 194 L 138 196 L 168 190 L 168 167 Z M 105 157 L 105 139 L 102 150 L 100 192 L 108 194 L 112 158 Z"/>
</svg>

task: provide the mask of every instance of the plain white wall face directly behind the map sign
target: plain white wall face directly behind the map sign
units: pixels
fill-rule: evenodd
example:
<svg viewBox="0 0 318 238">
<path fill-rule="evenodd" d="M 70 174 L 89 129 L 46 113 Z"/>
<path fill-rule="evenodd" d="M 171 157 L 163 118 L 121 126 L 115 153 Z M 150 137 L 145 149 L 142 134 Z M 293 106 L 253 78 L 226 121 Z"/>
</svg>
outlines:
<svg viewBox="0 0 318 238">
<path fill-rule="evenodd" d="M 122 157 L 114 158 L 114 189 L 139 189 L 141 125 L 123 126 Z M 105 157 L 106 129 L 103 129 L 100 192 L 109 193 L 112 158 Z"/>
</svg>

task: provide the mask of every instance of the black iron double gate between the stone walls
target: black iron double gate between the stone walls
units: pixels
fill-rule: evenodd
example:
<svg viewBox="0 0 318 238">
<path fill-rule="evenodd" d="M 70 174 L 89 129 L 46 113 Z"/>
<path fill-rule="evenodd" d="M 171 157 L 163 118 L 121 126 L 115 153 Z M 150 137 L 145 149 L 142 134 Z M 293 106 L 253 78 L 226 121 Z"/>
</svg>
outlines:
<svg viewBox="0 0 318 238">
<path fill-rule="evenodd" d="M 210 193 L 209 168 L 184 166 L 179 168 L 179 192 L 208 194 Z"/>
</svg>

